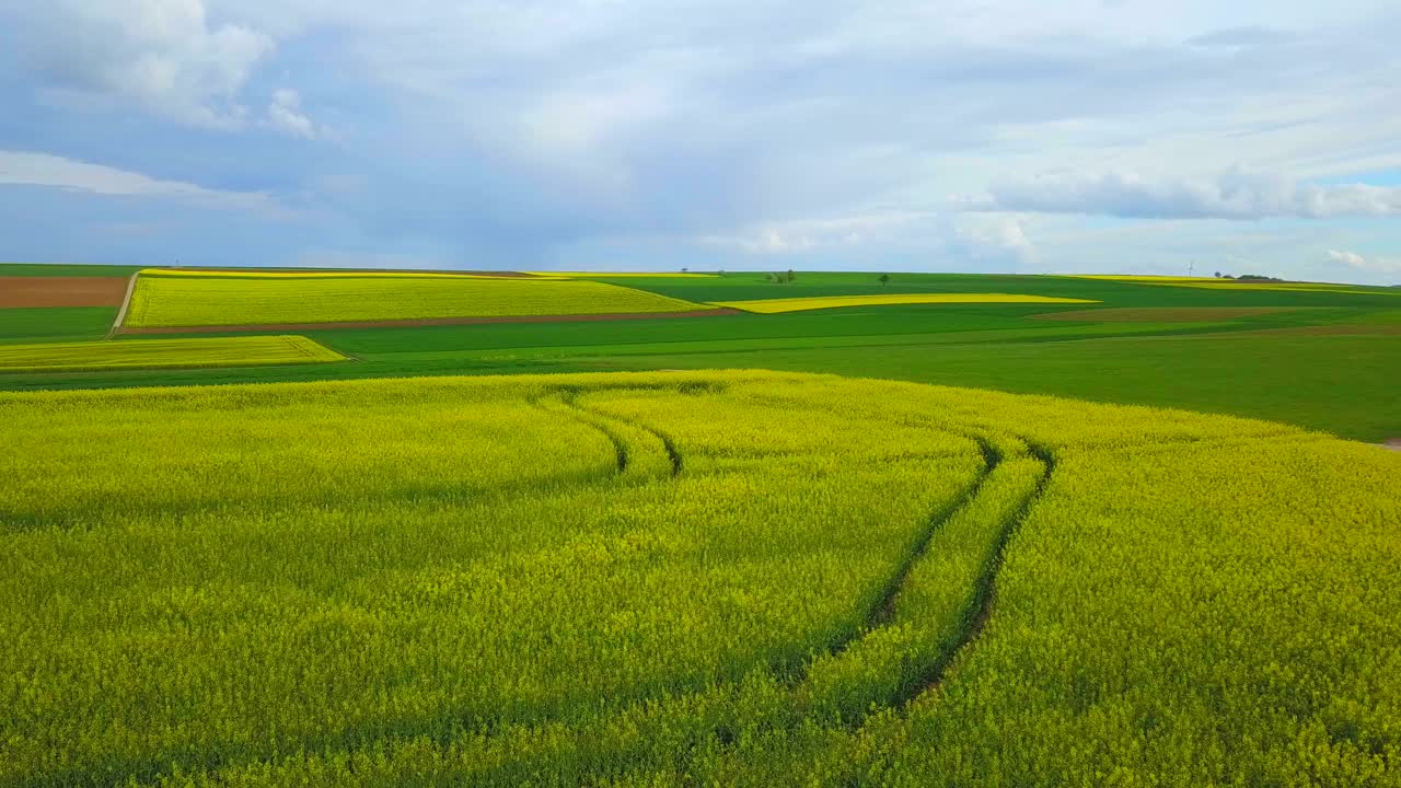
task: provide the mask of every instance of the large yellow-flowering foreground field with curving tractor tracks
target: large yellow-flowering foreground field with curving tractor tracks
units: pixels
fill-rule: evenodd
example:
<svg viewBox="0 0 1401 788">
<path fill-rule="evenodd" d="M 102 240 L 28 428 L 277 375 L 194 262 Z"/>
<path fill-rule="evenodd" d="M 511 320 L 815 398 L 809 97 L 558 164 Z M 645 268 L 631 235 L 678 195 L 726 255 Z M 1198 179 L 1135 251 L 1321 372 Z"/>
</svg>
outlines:
<svg viewBox="0 0 1401 788">
<path fill-rule="evenodd" d="M 4 785 L 1397 780 L 1401 454 L 1282 423 L 695 372 L 0 430 Z"/>
</svg>

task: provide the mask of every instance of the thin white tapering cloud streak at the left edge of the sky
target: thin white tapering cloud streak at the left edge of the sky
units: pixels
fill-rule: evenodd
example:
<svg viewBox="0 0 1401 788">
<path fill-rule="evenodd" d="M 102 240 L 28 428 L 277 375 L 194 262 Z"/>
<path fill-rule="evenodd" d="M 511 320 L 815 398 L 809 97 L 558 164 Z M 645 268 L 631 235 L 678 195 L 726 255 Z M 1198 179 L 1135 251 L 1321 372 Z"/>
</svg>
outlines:
<svg viewBox="0 0 1401 788">
<path fill-rule="evenodd" d="M 91 195 L 164 198 L 209 208 L 277 212 L 262 192 L 207 189 L 181 181 L 161 181 L 87 161 L 46 153 L 0 150 L 0 186 L 48 186 Z"/>
</svg>

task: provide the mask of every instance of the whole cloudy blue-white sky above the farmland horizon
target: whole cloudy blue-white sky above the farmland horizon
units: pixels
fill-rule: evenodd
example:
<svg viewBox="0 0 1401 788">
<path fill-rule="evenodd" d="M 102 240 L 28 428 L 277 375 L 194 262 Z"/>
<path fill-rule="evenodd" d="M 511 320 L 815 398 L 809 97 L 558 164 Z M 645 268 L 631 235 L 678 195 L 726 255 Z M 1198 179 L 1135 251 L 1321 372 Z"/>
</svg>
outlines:
<svg viewBox="0 0 1401 788">
<path fill-rule="evenodd" d="M 1401 283 L 1388 0 L 0 4 L 0 259 Z"/>
</svg>

